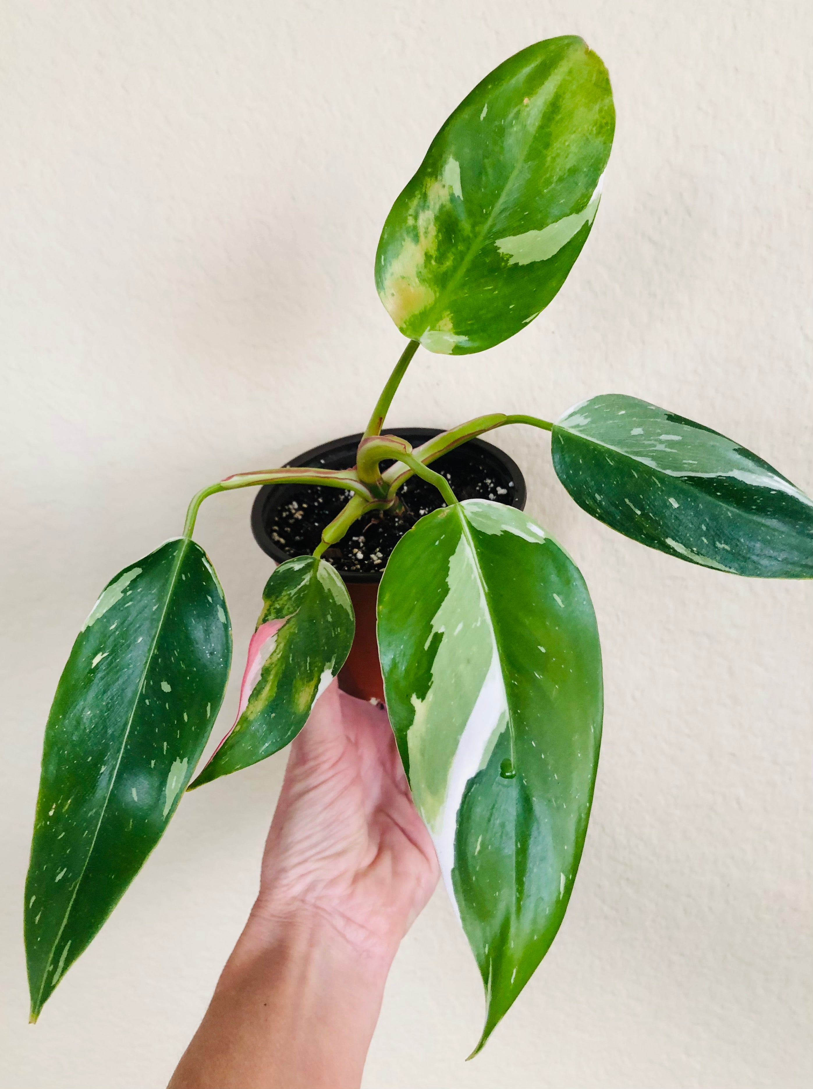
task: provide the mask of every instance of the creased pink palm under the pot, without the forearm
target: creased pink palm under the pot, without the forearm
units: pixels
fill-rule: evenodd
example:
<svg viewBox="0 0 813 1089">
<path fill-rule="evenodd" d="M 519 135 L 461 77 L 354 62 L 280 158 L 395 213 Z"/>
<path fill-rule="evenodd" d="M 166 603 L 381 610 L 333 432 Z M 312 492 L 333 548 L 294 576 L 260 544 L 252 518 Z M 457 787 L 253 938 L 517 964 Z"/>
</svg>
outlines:
<svg viewBox="0 0 813 1089">
<path fill-rule="evenodd" d="M 315 909 L 360 947 L 394 949 L 438 874 L 386 713 L 334 682 L 291 748 L 261 903 Z"/>
</svg>

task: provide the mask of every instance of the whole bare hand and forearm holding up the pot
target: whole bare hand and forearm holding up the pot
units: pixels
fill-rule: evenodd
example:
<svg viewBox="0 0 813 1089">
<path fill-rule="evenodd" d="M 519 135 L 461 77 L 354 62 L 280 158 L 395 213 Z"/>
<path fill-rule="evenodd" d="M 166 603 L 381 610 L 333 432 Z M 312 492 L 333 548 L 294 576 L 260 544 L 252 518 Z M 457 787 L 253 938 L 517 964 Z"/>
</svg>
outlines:
<svg viewBox="0 0 813 1089">
<path fill-rule="evenodd" d="M 291 747 L 259 896 L 170 1089 L 357 1089 L 438 874 L 386 713 L 333 682 Z"/>
</svg>

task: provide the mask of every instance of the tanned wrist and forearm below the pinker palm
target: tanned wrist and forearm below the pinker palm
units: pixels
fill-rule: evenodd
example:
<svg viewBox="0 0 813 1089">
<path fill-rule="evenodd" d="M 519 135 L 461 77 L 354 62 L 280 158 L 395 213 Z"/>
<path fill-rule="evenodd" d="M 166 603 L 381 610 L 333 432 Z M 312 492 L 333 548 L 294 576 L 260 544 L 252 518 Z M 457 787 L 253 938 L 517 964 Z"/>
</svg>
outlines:
<svg viewBox="0 0 813 1089">
<path fill-rule="evenodd" d="M 357 1089 L 391 959 L 317 911 L 259 903 L 172 1089 Z"/>
</svg>

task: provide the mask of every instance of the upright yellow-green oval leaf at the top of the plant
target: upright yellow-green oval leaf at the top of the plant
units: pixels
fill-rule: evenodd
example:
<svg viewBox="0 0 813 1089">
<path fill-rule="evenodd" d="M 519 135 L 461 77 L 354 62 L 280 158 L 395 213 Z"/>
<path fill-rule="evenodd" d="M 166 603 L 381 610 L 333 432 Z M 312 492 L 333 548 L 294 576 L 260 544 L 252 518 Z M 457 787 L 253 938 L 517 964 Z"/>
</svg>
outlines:
<svg viewBox="0 0 813 1089">
<path fill-rule="evenodd" d="M 590 233 L 614 129 L 607 71 L 581 38 L 539 41 L 494 69 L 384 223 L 375 286 L 398 329 L 464 355 L 532 321 Z"/>
</svg>

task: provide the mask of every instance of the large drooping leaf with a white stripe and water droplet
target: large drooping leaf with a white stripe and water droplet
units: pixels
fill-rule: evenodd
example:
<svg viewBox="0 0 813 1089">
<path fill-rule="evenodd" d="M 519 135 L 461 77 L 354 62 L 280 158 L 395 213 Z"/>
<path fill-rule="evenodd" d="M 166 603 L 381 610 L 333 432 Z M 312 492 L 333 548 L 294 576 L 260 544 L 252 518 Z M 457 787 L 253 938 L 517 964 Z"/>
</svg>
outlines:
<svg viewBox="0 0 813 1089">
<path fill-rule="evenodd" d="M 593 607 L 530 518 L 469 500 L 398 542 L 378 615 L 390 721 L 485 987 L 479 1050 L 576 878 L 601 741 Z"/>
</svg>

